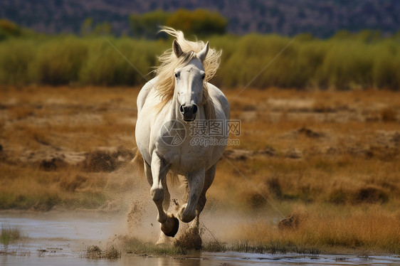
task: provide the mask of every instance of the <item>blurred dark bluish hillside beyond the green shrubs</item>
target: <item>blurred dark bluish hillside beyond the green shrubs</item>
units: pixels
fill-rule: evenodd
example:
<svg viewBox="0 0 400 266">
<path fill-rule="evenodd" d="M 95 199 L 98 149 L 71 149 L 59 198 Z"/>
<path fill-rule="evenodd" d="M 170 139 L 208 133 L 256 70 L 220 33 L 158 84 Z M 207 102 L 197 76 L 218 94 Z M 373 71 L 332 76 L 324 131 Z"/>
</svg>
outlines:
<svg viewBox="0 0 400 266">
<path fill-rule="evenodd" d="M 162 9 L 211 9 L 228 18 L 228 32 L 312 33 L 332 36 L 338 30 L 364 28 L 399 31 L 397 0 L 1 0 L 0 17 L 43 33 L 79 33 L 86 18 L 107 21 L 112 32 L 130 34 L 130 14 Z"/>
</svg>

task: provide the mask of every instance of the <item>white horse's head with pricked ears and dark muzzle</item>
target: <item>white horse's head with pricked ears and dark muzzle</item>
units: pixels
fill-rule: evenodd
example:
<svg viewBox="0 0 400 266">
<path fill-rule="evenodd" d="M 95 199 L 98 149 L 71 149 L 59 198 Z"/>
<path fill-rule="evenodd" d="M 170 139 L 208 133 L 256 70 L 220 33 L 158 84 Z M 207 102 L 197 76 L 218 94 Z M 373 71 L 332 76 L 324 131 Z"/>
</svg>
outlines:
<svg viewBox="0 0 400 266">
<path fill-rule="evenodd" d="M 184 54 L 176 40 L 174 40 L 173 50 L 177 58 Z M 179 102 L 179 112 L 186 122 L 191 122 L 196 118 L 196 113 L 199 110 L 197 105 L 203 100 L 203 84 L 206 77 L 203 61 L 208 52 L 209 43 L 206 43 L 206 46 L 186 65 L 174 70 L 175 93 Z"/>
</svg>

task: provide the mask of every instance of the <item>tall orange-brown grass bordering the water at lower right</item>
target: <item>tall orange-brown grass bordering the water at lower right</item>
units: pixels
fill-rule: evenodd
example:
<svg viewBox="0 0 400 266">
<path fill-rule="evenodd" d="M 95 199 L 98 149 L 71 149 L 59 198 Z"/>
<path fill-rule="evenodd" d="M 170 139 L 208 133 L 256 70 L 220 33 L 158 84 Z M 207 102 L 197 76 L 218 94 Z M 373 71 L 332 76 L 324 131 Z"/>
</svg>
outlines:
<svg viewBox="0 0 400 266">
<path fill-rule="evenodd" d="M 302 213 L 302 220 L 295 228 L 279 230 L 265 220 L 256 220 L 238 228 L 239 239 L 253 245 L 276 243 L 296 248 L 317 248 L 322 252 L 400 252 L 399 212 L 384 211 L 381 206 L 362 208 L 333 208 L 325 206 Z M 314 211 L 314 212 L 312 212 Z M 315 212 L 317 211 L 317 213 Z"/>
</svg>

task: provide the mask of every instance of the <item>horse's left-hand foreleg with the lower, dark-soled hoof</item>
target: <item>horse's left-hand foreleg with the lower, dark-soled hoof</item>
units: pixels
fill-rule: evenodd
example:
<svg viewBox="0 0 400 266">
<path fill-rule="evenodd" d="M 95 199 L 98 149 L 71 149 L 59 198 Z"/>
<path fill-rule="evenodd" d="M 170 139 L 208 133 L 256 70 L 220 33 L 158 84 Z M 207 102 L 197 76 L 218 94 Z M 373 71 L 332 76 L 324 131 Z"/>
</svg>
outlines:
<svg viewBox="0 0 400 266">
<path fill-rule="evenodd" d="M 166 177 L 169 171 L 169 164 L 165 161 L 161 156 L 159 156 L 156 152 L 153 153 L 152 156 L 152 188 L 150 189 L 150 193 L 152 199 L 157 206 L 158 216 L 157 220 L 161 223 L 161 230 L 165 235 L 174 236 L 179 227 L 179 221 L 177 218 L 174 218 L 172 213 L 165 213 L 163 208 L 164 201 L 164 187 L 163 184 L 166 184 Z M 167 186 L 165 186 L 167 189 Z M 168 193 L 166 191 L 166 193 Z M 168 195 L 166 195 L 168 198 Z"/>
</svg>

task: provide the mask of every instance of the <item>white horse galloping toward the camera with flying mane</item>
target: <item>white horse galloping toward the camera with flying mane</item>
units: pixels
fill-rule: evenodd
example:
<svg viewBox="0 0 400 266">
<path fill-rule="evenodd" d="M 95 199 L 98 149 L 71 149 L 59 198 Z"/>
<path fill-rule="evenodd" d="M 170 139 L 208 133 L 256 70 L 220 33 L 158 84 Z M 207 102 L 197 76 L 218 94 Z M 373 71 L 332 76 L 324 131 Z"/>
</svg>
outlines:
<svg viewBox="0 0 400 266">
<path fill-rule="evenodd" d="M 140 151 L 135 161 L 144 163 L 144 174 L 152 186 L 150 194 L 162 230 L 159 243 L 167 241 L 165 235 L 174 237 L 179 220 L 193 220 L 190 228 L 199 234 L 206 191 L 226 147 L 230 109 L 223 92 L 208 83 L 216 73 L 221 53 L 209 48 L 209 43 L 187 41 L 173 28 L 164 27 L 162 31 L 176 39 L 173 48 L 159 58 L 162 64 L 155 70 L 156 77 L 140 90 L 135 129 Z M 219 134 L 213 134 L 212 144 L 207 130 L 211 122 L 222 126 Z M 167 174 L 187 182 L 187 203 L 175 213 L 179 220 L 167 212 Z"/>
</svg>

